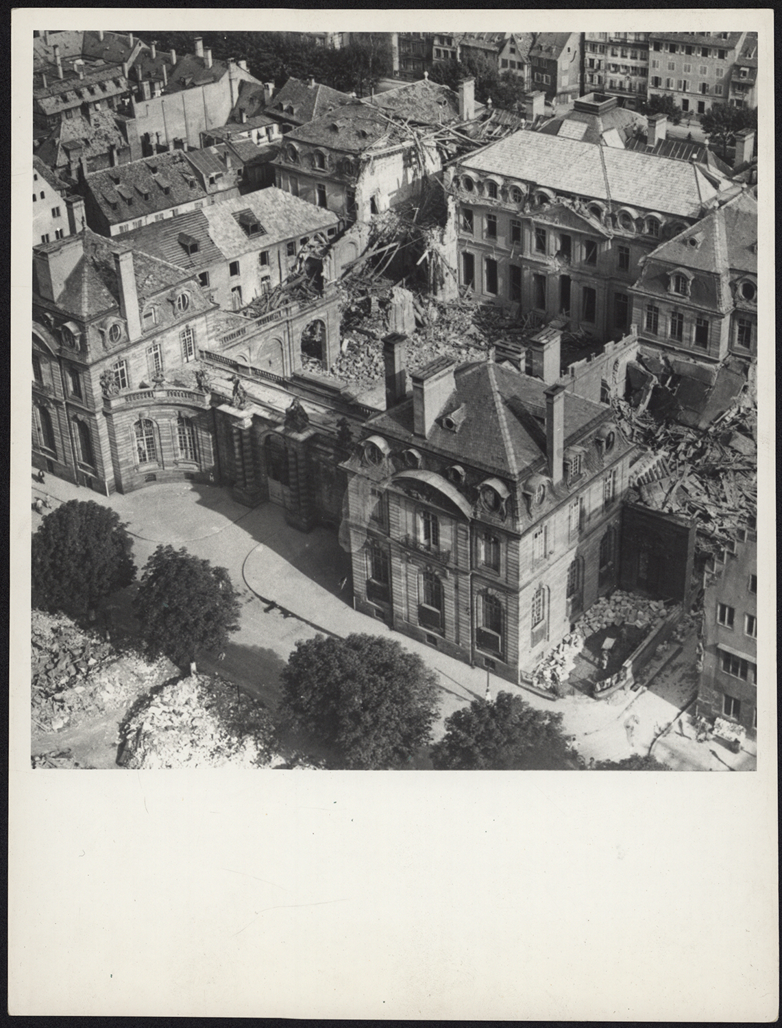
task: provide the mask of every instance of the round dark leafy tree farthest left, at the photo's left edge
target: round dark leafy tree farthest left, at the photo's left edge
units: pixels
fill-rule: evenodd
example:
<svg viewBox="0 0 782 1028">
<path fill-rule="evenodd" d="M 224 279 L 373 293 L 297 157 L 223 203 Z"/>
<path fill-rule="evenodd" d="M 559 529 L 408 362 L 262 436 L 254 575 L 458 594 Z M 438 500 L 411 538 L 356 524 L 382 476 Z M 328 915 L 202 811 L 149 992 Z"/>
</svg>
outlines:
<svg viewBox="0 0 782 1028">
<path fill-rule="evenodd" d="M 33 607 L 85 612 L 136 578 L 133 541 L 119 515 L 94 500 L 47 514 L 32 541 Z"/>
</svg>

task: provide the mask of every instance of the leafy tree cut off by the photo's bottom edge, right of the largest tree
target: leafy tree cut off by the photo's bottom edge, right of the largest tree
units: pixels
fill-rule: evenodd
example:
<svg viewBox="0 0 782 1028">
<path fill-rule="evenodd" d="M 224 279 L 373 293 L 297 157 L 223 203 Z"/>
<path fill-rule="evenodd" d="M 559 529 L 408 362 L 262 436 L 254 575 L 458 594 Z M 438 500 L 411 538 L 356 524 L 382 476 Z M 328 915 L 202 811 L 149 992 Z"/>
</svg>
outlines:
<svg viewBox="0 0 782 1028">
<path fill-rule="evenodd" d="M 520 696 L 499 692 L 473 700 L 446 719 L 432 747 L 438 771 L 555 771 L 574 768 L 562 734 L 562 714 L 535 710 Z"/>
</svg>

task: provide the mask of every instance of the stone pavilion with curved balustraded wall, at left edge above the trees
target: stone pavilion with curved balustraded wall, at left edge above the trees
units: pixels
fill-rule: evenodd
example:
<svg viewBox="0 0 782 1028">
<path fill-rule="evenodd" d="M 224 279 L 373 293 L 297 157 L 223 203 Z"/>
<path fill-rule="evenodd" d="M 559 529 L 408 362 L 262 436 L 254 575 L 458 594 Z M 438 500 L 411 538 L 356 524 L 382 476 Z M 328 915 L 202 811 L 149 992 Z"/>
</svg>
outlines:
<svg viewBox="0 0 782 1028">
<path fill-rule="evenodd" d="M 88 228 L 33 258 L 33 465 L 106 494 L 207 480 L 209 395 L 178 380 L 210 336 L 196 279 Z"/>
</svg>

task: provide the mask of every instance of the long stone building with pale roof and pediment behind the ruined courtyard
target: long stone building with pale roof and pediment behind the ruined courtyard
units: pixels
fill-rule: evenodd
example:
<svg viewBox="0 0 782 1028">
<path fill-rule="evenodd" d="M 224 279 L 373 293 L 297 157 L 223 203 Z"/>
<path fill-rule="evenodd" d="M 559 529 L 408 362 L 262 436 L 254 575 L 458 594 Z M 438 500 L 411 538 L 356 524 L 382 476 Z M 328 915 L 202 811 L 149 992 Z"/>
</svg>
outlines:
<svg viewBox="0 0 782 1028">
<path fill-rule="evenodd" d="M 446 178 L 460 284 L 484 302 L 562 316 L 606 340 L 631 324 L 642 258 L 695 225 L 731 183 L 600 138 L 516 132 L 456 161 Z"/>
</svg>

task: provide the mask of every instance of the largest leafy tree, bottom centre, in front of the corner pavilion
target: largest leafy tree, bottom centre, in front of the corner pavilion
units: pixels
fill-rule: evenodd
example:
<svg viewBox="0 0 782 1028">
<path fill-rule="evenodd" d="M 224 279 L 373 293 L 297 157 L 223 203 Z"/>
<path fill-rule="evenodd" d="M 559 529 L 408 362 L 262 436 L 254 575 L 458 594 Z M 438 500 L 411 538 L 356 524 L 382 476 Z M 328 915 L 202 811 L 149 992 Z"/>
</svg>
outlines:
<svg viewBox="0 0 782 1028">
<path fill-rule="evenodd" d="M 435 673 L 375 635 L 299 641 L 283 669 L 281 712 L 331 747 L 340 767 L 398 768 L 430 741 Z"/>
</svg>

